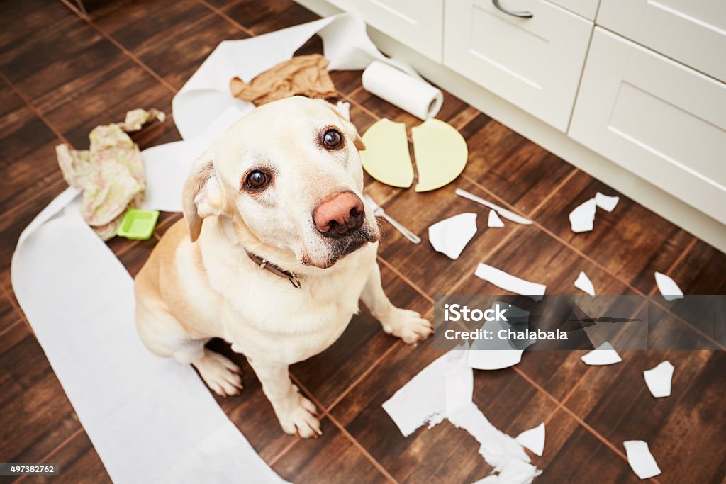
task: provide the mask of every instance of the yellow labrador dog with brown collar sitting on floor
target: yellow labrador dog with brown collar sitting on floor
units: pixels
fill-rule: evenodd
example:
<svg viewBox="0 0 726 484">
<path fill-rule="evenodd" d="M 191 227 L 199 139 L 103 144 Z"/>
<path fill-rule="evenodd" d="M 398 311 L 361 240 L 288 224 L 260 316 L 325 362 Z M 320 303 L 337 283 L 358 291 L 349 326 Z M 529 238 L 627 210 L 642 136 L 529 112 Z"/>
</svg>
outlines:
<svg viewBox="0 0 726 484">
<path fill-rule="evenodd" d="M 136 326 L 150 350 L 191 363 L 214 392 L 234 395 L 240 369 L 205 348 L 213 337 L 232 343 L 282 429 L 302 437 L 319 435 L 320 424 L 287 367 L 330 346 L 359 300 L 406 343 L 431 334 L 429 321 L 383 293 L 358 149 L 355 127 L 327 102 L 258 107 L 195 161 L 184 221 L 136 276 Z"/>
</svg>

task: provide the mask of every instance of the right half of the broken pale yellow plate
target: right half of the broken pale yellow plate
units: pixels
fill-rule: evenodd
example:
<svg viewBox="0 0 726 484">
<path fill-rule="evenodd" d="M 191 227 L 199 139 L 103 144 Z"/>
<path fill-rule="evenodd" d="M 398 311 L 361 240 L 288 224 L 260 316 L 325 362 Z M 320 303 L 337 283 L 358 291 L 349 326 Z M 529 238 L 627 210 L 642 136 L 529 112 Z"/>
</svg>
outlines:
<svg viewBox="0 0 726 484">
<path fill-rule="evenodd" d="M 438 119 L 425 120 L 411 128 L 411 139 L 418 171 L 417 192 L 441 188 L 464 171 L 469 149 L 454 126 Z"/>
</svg>

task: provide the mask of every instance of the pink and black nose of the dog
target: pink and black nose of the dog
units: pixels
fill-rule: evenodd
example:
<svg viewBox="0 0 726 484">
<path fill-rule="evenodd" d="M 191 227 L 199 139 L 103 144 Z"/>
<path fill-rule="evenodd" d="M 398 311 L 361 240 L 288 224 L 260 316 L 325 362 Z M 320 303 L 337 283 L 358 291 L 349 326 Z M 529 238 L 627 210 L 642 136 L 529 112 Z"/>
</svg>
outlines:
<svg viewBox="0 0 726 484">
<path fill-rule="evenodd" d="M 325 197 L 313 210 L 313 222 L 325 237 L 343 237 L 360 229 L 365 216 L 363 202 L 352 192 Z"/>
</svg>

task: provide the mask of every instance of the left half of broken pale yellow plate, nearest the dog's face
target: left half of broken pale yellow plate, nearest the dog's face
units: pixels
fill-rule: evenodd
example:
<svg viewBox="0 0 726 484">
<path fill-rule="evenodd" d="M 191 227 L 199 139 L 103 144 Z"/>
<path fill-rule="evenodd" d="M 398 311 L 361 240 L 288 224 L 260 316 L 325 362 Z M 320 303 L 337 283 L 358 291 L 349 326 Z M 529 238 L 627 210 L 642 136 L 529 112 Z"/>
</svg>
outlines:
<svg viewBox="0 0 726 484">
<path fill-rule="evenodd" d="M 370 176 L 391 186 L 411 186 L 413 165 L 404 123 L 383 118 L 373 123 L 362 139 L 366 149 L 360 152 L 361 161 Z"/>
</svg>

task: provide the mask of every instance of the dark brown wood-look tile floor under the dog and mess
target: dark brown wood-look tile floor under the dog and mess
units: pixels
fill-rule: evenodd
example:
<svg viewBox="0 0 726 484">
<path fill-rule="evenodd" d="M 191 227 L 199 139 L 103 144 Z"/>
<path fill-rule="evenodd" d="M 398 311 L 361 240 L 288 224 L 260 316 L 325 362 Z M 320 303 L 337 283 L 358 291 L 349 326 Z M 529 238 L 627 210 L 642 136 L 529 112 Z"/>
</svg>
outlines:
<svg viewBox="0 0 726 484">
<path fill-rule="evenodd" d="M 79 7 L 80 6 L 80 7 Z M 18 308 L 9 262 L 20 231 L 65 188 L 54 146 L 87 146 L 97 124 L 126 110 L 171 110 L 174 93 L 219 41 L 248 38 L 314 20 L 290 0 L 6 0 L 0 3 L 0 462 L 57 462 L 54 483 L 109 480 Z M 319 51 L 311 41 L 301 52 Z M 380 117 L 419 121 L 362 89 L 360 73 L 333 73 L 340 97 L 364 131 Z M 430 313 L 433 295 L 492 293 L 473 277 L 481 261 L 571 293 L 579 271 L 611 294 L 655 293 L 653 271 L 684 292 L 724 294 L 726 255 L 621 195 L 595 230 L 572 234 L 566 214 L 596 191 L 617 192 L 446 94 L 440 117 L 460 129 L 469 164 L 455 183 L 534 219 L 484 229 L 458 261 L 428 244 L 427 227 L 464 210 L 486 210 L 453 194 L 454 185 L 417 194 L 368 180 L 367 192 L 423 239 L 409 244 L 388 227 L 380 250 L 383 280 L 398 305 Z M 135 136 L 141 147 L 174 141 L 173 118 Z M 179 215 L 163 214 L 148 242 L 109 243 L 131 274 Z M 665 307 L 664 307 L 665 309 Z M 677 316 L 672 324 L 685 332 Z M 693 335 L 693 337 L 700 337 Z M 213 343 L 229 354 L 229 348 Z M 588 367 L 580 352 L 530 351 L 518 366 L 476 372 L 475 401 L 499 429 L 517 435 L 547 422 L 536 483 L 635 483 L 624 440 L 642 439 L 663 473 L 653 483 L 722 483 L 726 478 L 726 353 L 623 351 L 623 362 Z M 384 335 L 367 314 L 338 343 L 293 366 L 293 378 L 320 407 L 323 436 L 299 440 L 280 430 L 255 375 L 241 396 L 219 398 L 229 418 L 287 480 L 303 483 L 470 483 L 489 467 L 478 445 L 444 423 L 402 438 L 381 403 L 438 353 Z M 672 396 L 654 401 L 643 369 L 668 358 Z M 0 477 L 0 482 L 14 478 Z M 26 477 L 25 482 L 44 479 Z"/>
</svg>

